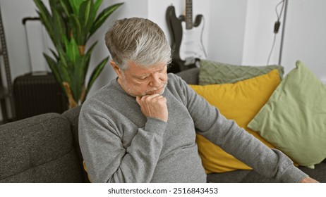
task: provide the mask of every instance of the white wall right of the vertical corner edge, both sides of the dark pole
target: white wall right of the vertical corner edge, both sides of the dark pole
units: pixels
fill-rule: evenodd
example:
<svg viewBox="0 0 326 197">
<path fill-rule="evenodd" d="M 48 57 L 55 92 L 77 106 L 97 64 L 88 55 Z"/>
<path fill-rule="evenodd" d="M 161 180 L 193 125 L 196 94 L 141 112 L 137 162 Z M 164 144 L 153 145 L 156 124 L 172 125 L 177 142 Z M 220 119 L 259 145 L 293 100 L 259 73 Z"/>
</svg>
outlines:
<svg viewBox="0 0 326 197">
<path fill-rule="evenodd" d="M 265 65 L 270 53 L 279 0 L 248 0 L 242 65 Z M 301 60 L 326 82 L 326 1 L 288 0 L 281 65 L 285 75 Z M 283 13 L 284 15 L 284 13 Z M 270 64 L 279 63 L 283 18 Z"/>
</svg>

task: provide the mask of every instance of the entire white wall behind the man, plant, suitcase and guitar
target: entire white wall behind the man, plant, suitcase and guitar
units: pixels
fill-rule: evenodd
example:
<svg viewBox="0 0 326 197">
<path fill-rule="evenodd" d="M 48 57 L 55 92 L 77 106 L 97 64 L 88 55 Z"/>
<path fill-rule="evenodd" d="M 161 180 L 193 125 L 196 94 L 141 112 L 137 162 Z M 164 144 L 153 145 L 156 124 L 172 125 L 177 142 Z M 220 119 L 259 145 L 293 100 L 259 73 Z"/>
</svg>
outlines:
<svg viewBox="0 0 326 197">
<path fill-rule="evenodd" d="M 203 44 L 207 51 L 207 58 L 213 61 L 233 63 L 239 65 L 265 65 L 272 47 L 274 37 L 273 27 L 276 20 L 274 8 L 280 0 L 193 0 L 193 18 L 203 14 L 205 29 Z M 47 3 L 47 0 L 44 0 Z M 106 0 L 102 7 L 125 2 L 114 12 L 94 36 L 90 43 L 99 39 L 99 43 L 92 55 L 90 71 L 109 53 L 104 44 L 104 33 L 110 24 L 120 18 L 143 17 L 155 21 L 167 34 L 165 12 L 171 4 L 176 8 L 176 15 L 184 10 L 184 0 Z M 11 75 L 15 79 L 18 75 L 30 72 L 28 53 L 26 51 L 25 30 L 21 20 L 26 16 L 37 16 L 36 6 L 32 0 L 0 0 L 1 12 L 6 33 Z M 326 66 L 323 57 L 326 53 L 326 13 L 322 11 L 326 1 L 322 0 L 289 0 L 284 34 L 284 48 L 282 65 L 286 72 L 294 68 L 296 59 L 301 59 L 308 68 L 321 79 L 326 79 Z M 282 26 L 277 34 L 276 44 L 270 64 L 279 61 L 279 44 Z M 40 38 L 36 36 L 32 44 L 36 46 Z M 103 41 L 103 42 L 102 42 Z M 37 50 L 40 56 L 37 56 Z M 40 69 L 48 69 L 42 58 L 43 49 L 33 49 L 33 63 Z M 45 64 L 45 65 L 44 65 Z M 89 77 L 89 74 L 87 77 Z M 107 84 L 116 75 L 109 65 L 93 85 L 90 94 Z M 0 115 L 0 120 L 1 120 Z"/>
</svg>

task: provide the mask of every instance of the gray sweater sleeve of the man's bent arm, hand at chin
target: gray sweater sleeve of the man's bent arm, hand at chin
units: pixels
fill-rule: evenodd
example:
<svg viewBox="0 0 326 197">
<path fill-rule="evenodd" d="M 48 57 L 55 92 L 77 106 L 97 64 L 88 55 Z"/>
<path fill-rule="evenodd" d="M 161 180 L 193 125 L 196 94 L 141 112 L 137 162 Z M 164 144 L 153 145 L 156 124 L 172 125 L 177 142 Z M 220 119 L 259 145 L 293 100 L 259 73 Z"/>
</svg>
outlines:
<svg viewBox="0 0 326 197">
<path fill-rule="evenodd" d="M 114 123 L 99 114 L 80 113 L 79 141 L 91 182 L 150 182 L 162 150 L 166 122 L 147 118 L 130 146 Z"/>
</svg>

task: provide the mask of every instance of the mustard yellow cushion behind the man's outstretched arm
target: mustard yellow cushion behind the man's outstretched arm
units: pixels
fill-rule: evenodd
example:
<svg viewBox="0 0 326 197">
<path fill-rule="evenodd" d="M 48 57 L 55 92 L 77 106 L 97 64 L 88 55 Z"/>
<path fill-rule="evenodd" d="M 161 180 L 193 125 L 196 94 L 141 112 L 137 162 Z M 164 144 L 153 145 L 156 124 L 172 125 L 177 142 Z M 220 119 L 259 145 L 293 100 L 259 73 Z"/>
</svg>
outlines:
<svg viewBox="0 0 326 197">
<path fill-rule="evenodd" d="M 234 84 L 210 84 L 205 86 L 190 85 L 198 94 L 210 104 L 216 106 L 220 113 L 228 119 L 234 120 L 240 127 L 253 134 L 270 148 L 274 148 L 253 130 L 246 127 L 255 117 L 260 108 L 267 103 L 268 98 L 280 82 L 277 70 L 253 77 Z M 206 173 L 229 172 L 233 170 L 251 170 L 248 165 L 234 158 L 205 139 L 197 135 L 198 151 L 203 161 Z"/>
</svg>

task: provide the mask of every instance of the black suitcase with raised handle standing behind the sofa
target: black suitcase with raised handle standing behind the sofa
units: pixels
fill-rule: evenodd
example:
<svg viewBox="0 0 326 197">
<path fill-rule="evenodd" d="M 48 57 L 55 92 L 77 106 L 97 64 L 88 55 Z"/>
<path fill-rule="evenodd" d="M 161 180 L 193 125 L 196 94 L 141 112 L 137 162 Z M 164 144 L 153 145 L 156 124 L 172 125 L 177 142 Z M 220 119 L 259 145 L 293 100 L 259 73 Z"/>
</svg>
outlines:
<svg viewBox="0 0 326 197">
<path fill-rule="evenodd" d="M 23 18 L 29 58 L 31 57 L 25 23 L 30 20 L 37 20 L 40 23 L 38 18 Z M 30 64 L 32 64 L 31 61 Z M 32 65 L 30 65 L 30 69 L 33 71 Z M 16 77 L 13 81 L 13 100 L 16 120 L 42 113 L 63 113 L 68 109 L 68 101 L 64 91 L 56 82 L 54 75 L 48 71 L 30 72 Z"/>
</svg>

